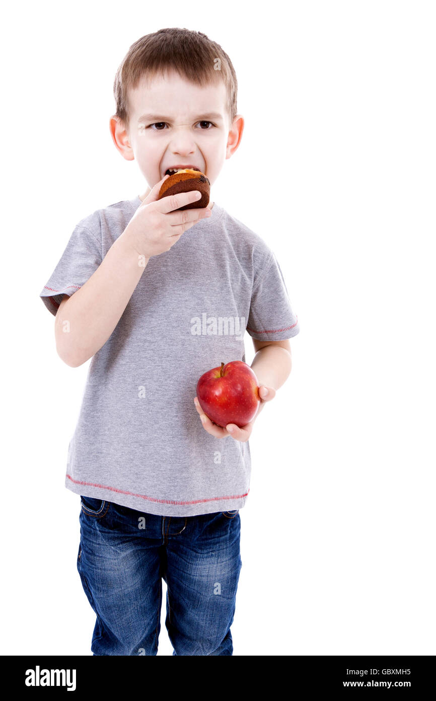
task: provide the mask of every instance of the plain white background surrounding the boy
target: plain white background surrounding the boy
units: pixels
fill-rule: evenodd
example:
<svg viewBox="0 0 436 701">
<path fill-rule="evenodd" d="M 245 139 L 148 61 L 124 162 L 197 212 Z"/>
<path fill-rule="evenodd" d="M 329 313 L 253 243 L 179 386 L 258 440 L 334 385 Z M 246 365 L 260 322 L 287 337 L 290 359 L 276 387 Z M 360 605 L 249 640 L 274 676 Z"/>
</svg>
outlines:
<svg viewBox="0 0 436 701">
<path fill-rule="evenodd" d="M 163 27 L 230 55 L 246 127 L 213 196 L 274 250 L 301 326 L 250 440 L 234 655 L 435 655 L 436 27 L 416 0 L 3 9 L 1 653 L 92 654 L 64 487 L 90 361 L 60 360 L 38 295 L 80 219 L 146 189 L 108 121 L 122 57 Z"/>
</svg>

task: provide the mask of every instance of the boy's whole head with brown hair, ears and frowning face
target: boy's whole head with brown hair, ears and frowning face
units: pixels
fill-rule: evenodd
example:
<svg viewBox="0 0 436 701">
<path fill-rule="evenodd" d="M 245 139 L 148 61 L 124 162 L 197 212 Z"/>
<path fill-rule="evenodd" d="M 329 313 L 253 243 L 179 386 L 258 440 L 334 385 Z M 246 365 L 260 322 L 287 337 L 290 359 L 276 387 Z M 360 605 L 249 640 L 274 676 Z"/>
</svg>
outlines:
<svg viewBox="0 0 436 701">
<path fill-rule="evenodd" d="M 136 158 L 150 188 L 168 168 L 194 165 L 216 180 L 241 141 L 237 78 L 223 49 L 201 32 L 160 29 L 129 48 L 115 76 L 113 142 Z"/>
</svg>

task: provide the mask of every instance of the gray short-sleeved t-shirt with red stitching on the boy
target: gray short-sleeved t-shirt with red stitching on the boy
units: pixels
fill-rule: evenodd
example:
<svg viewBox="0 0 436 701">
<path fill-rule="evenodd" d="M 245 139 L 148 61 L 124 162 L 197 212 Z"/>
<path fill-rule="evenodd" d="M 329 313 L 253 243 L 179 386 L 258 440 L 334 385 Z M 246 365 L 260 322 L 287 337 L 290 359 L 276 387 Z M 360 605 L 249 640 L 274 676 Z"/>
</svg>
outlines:
<svg viewBox="0 0 436 701">
<path fill-rule="evenodd" d="M 97 270 L 141 205 L 139 197 L 81 219 L 40 294 L 56 315 Z M 250 487 L 248 441 L 204 430 L 197 381 L 244 360 L 260 341 L 299 331 L 274 252 L 215 203 L 211 217 L 150 258 L 125 311 L 92 357 L 65 486 L 161 516 L 241 509 Z"/>
</svg>

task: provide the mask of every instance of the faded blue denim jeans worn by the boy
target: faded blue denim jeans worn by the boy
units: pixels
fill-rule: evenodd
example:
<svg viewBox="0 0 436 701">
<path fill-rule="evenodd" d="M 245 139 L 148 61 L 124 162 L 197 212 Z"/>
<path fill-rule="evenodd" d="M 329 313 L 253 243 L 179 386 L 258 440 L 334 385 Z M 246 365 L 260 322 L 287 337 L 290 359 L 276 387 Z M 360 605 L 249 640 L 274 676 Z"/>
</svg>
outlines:
<svg viewBox="0 0 436 701">
<path fill-rule="evenodd" d="M 156 516 L 81 496 L 77 569 L 94 655 L 156 655 L 162 578 L 173 655 L 232 655 L 239 510 Z"/>
</svg>

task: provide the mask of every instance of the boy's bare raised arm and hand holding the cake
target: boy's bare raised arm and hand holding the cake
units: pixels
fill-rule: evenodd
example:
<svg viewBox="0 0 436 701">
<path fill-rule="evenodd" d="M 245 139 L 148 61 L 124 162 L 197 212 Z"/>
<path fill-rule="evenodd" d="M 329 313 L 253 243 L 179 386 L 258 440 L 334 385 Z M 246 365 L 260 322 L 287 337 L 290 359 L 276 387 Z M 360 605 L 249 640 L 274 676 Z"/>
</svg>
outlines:
<svg viewBox="0 0 436 701">
<path fill-rule="evenodd" d="M 92 358 L 111 336 L 150 257 L 168 251 L 208 210 L 174 212 L 201 197 L 197 190 L 157 199 L 166 175 L 156 183 L 103 261 L 82 287 L 71 294 L 55 318 L 56 350 L 66 365 L 78 367 Z M 150 205 L 150 206 L 148 206 Z"/>
</svg>

